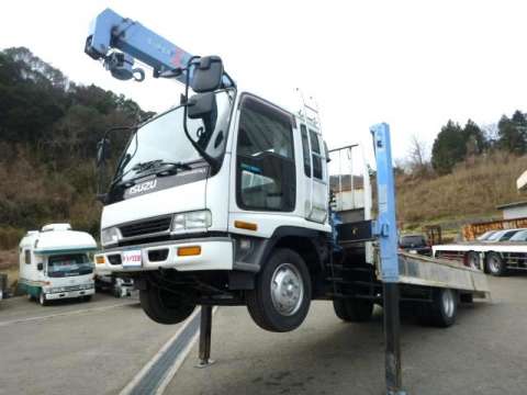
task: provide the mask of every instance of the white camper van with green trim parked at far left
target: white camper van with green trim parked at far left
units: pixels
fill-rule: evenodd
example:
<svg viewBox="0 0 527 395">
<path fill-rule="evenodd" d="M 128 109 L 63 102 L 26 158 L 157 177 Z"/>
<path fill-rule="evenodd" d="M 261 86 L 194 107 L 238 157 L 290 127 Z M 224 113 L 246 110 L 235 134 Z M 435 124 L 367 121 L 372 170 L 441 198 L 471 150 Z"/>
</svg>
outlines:
<svg viewBox="0 0 527 395">
<path fill-rule="evenodd" d="M 49 224 L 30 230 L 20 241 L 20 287 L 42 305 L 58 298 L 81 297 L 94 293 L 93 237 L 71 230 L 69 224 Z"/>
</svg>

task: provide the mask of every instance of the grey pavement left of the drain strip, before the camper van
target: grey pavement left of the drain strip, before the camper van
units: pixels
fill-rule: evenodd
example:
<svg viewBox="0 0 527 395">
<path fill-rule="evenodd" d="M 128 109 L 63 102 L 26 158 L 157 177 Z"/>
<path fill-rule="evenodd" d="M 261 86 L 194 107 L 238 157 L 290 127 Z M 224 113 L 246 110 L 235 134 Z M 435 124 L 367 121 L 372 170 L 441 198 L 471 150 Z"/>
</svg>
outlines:
<svg viewBox="0 0 527 395">
<path fill-rule="evenodd" d="M 116 394 L 178 327 L 148 319 L 136 298 L 2 301 L 0 394 Z"/>
</svg>

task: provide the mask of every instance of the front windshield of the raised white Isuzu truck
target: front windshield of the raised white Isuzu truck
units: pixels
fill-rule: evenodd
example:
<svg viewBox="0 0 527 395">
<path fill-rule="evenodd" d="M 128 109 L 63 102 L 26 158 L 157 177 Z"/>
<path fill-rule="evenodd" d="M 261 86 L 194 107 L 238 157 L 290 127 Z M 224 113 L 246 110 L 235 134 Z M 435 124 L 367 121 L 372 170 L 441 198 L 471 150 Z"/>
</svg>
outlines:
<svg viewBox="0 0 527 395">
<path fill-rule="evenodd" d="M 216 109 L 211 122 L 187 120 L 190 137 L 211 158 L 223 158 L 234 94 L 234 89 L 215 93 Z M 169 110 L 137 129 L 117 165 L 114 183 L 143 177 L 164 163 L 184 165 L 203 159 L 184 134 L 183 110 L 183 106 Z M 157 165 L 153 167 L 154 162 Z"/>
</svg>

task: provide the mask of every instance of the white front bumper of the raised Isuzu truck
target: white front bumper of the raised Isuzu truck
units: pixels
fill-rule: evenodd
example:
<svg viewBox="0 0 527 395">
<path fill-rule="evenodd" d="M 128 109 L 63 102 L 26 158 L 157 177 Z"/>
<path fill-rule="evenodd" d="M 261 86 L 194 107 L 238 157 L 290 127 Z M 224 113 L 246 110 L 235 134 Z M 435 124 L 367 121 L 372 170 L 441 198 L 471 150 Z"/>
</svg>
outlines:
<svg viewBox="0 0 527 395">
<path fill-rule="evenodd" d="M 199 247 L 200 253 L 180 256 L 182 247 Z M 141 250 L 141 266 L 123 267 L 123 252 Z M 96 255 L 97 272 L 138 272 L 158 269 L 195 270 L 233 270 L 233 240 L 228 237 L 206 237 L 184 240 L 169 240 L 137 246 L 116 247 Z M 103 263 L 99 263 L 104 257 Z"/>
</svg>

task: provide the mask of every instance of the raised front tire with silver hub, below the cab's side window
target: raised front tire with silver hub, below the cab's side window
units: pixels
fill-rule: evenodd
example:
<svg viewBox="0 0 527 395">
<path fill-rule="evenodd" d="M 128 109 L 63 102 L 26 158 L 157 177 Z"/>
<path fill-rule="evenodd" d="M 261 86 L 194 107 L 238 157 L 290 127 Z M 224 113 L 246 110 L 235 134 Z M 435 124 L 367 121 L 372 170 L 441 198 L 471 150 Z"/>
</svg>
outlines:
<svg viewBox="0 0 527 395">
<path fill-rule="evenodd" d="M 295 251 L 280 248 L 256 276 L 255 289 L 247 292 L 247 309 L 260 328 L 291 331 L 304 321 L 311 294 L 311 275 L 304 260 Z"/>
</svg>

